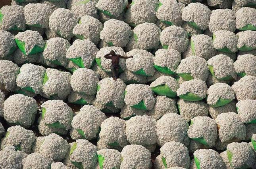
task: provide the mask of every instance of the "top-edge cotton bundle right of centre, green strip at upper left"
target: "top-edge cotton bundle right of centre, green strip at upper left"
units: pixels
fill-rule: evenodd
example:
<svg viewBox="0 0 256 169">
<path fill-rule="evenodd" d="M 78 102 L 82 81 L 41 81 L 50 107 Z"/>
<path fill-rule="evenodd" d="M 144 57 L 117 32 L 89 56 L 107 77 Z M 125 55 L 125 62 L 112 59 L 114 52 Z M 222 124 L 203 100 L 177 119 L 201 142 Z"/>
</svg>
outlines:
<svg viewBox="0 0 256 169">
<path fill-rule="evenodd" d="M 168 26 L 177 25 L 181 26 L 183 23 L 181 15 L 185 8 L 182 3 L 175 3 L 173 1 L 162 0 L 156 12 L 156 17 L 164 24 Z"/>
</svg>

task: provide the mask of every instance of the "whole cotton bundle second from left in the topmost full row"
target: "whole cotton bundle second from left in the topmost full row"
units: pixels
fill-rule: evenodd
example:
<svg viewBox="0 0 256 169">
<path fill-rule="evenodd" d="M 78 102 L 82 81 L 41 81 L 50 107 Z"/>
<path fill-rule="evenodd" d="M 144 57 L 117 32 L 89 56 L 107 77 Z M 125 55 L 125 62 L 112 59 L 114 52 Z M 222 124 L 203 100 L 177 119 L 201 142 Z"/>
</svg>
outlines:
<svg viewBox="0 0 256 169">
<path fill-rule="evenodd" d="M 48 28 L 51 13 L 52 9 L 46 4 L 27 4 L 24 7 L 26 24 L 32 27 Z"/>
</svg>

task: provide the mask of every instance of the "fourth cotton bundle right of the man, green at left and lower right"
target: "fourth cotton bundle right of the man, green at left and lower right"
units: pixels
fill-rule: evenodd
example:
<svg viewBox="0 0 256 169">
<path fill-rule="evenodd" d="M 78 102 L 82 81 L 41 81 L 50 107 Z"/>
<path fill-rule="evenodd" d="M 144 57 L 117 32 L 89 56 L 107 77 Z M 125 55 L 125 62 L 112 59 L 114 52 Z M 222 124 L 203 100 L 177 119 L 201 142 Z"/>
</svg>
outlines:
<svg viewBox="0 0 256 169">
<path fill-rule="evenodd" d="M 230 81 L 237 78 L 233 60 L 224 54 L 210 58 L 207 64 L 212 76 L 220 81 Z"/>
</svg>

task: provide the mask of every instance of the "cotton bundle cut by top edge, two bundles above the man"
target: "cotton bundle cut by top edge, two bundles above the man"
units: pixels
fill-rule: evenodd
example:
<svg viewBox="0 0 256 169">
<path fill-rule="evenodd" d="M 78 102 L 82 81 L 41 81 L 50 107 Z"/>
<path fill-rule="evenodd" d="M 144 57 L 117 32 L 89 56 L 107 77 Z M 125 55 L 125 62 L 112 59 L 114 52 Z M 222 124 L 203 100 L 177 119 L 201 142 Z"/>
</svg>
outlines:
<svg viewBox="0 0 256 169">
<path fill-rule="evenodd" d="M 119 17 L 127 5 L 128 0 L 99 0 L 96 8 L 109 17 Z"/>
</svg>

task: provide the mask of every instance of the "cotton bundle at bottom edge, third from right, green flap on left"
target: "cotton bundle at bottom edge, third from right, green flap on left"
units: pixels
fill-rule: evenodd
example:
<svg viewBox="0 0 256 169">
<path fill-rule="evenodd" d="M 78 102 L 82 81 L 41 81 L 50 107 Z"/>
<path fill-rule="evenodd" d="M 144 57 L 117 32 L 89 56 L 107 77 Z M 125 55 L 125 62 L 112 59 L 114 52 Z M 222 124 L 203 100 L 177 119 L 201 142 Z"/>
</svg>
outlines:
<svg viewBox="0 0 256 169">
<path fill-rule="evenodd" d="M 179 142 L 170 141 L 160 148 L 160 164 L 155 163 L 156 168 L 164 169 L 167 167 L 189 168 L 190 158 L 187 147 Z M 182 160 L 181 160 L 182 159 Z M 165 161 L 162 162 L 162 161 Z"/>
</svg>

